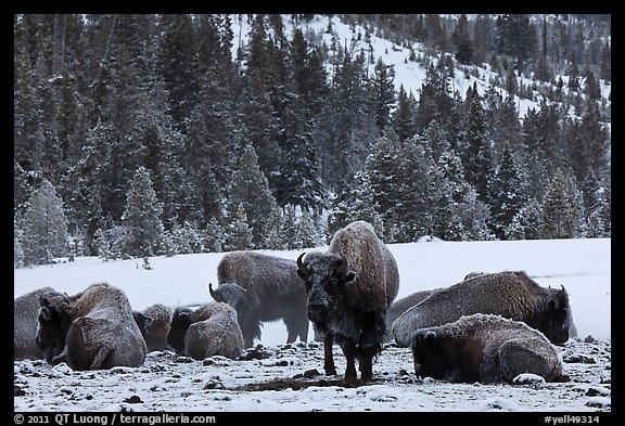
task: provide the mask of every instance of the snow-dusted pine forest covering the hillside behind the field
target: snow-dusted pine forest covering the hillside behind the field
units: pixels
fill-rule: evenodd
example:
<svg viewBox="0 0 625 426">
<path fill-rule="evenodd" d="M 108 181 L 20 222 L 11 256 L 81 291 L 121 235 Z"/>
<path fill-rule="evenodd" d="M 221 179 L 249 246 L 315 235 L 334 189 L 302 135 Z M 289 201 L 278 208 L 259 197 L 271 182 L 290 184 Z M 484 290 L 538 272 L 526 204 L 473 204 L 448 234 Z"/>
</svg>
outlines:
<svg viewBox="0 0 625 426">
<path fill-rule="evenodd" d="M 13 27 L 15 268 L 315 247 L 359 219 L 385 243 L 611 235 L 611 15 Z"/>
</svg>

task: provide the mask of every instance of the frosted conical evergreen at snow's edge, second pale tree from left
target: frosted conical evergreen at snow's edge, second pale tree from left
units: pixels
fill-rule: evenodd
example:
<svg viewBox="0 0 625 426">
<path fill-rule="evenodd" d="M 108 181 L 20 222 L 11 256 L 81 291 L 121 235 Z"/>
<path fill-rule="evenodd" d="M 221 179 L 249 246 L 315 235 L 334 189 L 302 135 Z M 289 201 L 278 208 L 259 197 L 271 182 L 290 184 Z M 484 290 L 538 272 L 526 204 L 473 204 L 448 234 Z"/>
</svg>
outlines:
<svg viewBox="0 0 625 426">
<path fill-rule="evenodd" d="M 163 205 L 156 197 L 150 171 L 139 167 L 126 196 L 124 225 L 124 255 L 145 257 L 162 251 Z"/>
</svg>

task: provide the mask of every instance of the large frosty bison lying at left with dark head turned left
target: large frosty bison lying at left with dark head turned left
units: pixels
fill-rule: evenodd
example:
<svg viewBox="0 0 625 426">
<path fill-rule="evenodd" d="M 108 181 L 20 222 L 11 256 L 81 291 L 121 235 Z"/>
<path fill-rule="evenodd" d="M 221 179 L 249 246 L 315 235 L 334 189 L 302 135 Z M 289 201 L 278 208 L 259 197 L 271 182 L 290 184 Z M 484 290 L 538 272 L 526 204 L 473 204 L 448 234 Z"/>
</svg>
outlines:
<svg viewBox="0 0 625 426">
<path fill-rule="evenodd" d="M 50 364 L 65 362 L 73 370 L 143 364 L 145 340 L 119 288 L 98 283 L 75 296 L 47 292 L 39 305 L 37 346 Z"/>
</svg>

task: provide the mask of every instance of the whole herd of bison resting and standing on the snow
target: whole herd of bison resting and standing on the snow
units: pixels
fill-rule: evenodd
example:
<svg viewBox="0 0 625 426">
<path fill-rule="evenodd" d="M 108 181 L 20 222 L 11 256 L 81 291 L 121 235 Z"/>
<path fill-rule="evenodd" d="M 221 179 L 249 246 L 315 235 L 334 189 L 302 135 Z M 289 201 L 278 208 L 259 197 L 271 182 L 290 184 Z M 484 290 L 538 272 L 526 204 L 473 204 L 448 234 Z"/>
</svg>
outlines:
<svg viewBox="0 0 625 426">
<path fill-rule="evenodd" d="M 225 254 L 217 277 L 209 286 L 215 301 L 176 309 L 155 304 L 133 310 L 107 283 L 76 295 L 51 287 L 23 295 L 14 306 L 14 359 L 64 362 L 78 371 L 140 366 L 156 350 L 239 360 L 260 339 L 264 322 L 282 320 L 286 343 L 308 341 L 312 323 L 327 375 L 337 374 L 337 345 L 345 383 L 372 380 L 372 365 L 390 341 L 411 351 L 421 377 L 569 380 L 557 349 L 576 336 L 565 288 L 543 287 L 523 271 L 473 272 L 449 287 L 396 300 L 397 263 L 365 221 L 339 230 L 326 251 L 297 260 Z"/>
</svg>

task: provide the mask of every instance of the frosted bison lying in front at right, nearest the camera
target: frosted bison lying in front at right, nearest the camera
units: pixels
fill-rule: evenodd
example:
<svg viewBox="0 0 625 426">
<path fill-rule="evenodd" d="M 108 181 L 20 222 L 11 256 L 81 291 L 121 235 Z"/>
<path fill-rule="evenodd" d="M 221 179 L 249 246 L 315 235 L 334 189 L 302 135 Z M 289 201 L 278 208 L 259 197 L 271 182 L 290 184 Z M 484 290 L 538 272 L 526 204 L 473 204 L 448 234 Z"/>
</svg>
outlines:
<svg viewBox="0 0 625 426">
<path fill-rule="evenodd" d="M 421 328 L 410 346 L 414 373 L 454 383 L 509 383 L 523 373 L 566 382 L 556 347 L 527 324 L 475 313 Z"/>
</svg>

